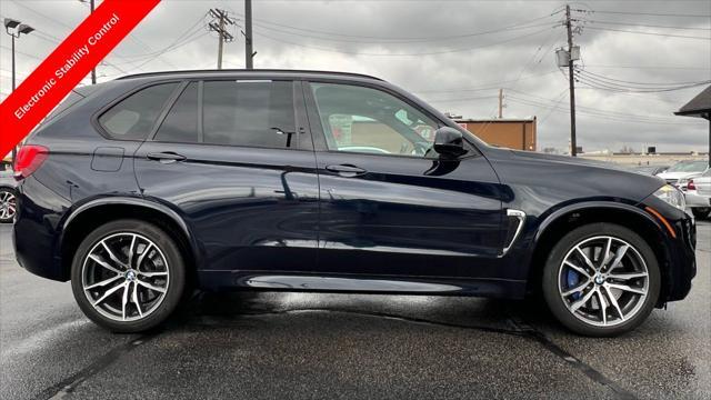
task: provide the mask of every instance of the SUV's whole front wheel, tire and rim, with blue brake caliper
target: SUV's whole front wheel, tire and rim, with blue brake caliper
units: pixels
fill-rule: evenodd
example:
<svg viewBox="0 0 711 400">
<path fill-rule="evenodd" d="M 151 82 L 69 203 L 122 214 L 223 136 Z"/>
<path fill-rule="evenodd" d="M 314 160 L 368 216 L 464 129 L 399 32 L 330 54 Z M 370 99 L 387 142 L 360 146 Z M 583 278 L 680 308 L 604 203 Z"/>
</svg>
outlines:
<svg viewBox="0 0 711 400">
<path fill-rule="evenodd" d="M 659 263 L 639 234 L 594 223 L 565 234 L 543 270 L 543 294 L 558 320 L 574 332 L 617 336 L 642 323 L 657 303 Z"/>
</svg>

